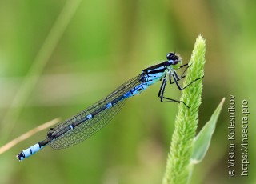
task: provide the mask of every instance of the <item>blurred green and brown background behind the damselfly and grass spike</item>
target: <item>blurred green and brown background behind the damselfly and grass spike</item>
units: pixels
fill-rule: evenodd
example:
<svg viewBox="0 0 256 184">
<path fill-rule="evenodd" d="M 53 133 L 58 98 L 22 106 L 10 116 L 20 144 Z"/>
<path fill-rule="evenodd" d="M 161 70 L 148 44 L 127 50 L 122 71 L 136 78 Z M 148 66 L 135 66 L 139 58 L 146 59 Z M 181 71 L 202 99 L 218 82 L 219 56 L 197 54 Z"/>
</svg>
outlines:
<svg viewBox="0 0 256 184">
<path fill-rule="evenodd" d="M 206 68 L 198 130 L 222 97 L 226 102 L 191 183 L 256 183 L 255 10 L 253 1 L 230 0 L 1 1 L 1 146 L 44 122 L 78 113 L 170 51 L 187 62 L 202 34 Z M 159 87 L 130 98 L 108 126 L 77 146 L 46 147 L 24 162 L 15 155 L 45 138 L 47 130 L 14 146 L 0 156 L 0 183 L 161 183 L 178 106 L 159 102 Z M 168 88 L 166 96 L 178 99 L 178 89 Z M 227 167 L 230 94 L 237 121 L 233 178 Z M 251 114 L 250 176 L 242 178 L 243 99 Z"/>
</svg>

